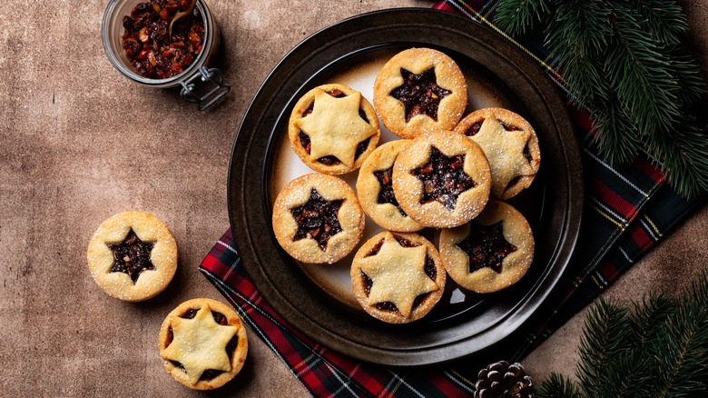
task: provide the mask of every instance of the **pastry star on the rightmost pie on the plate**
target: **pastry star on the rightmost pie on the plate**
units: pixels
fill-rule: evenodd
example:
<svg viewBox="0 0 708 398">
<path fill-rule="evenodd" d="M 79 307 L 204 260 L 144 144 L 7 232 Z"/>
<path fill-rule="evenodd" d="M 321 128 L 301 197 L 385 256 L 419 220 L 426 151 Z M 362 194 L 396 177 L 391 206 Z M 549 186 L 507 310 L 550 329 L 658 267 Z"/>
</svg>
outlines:
<svg viewBox="0 0 708 398">
<path fill-rule="evenodd" d="M 492 173 L 492 192 L 499 196 L 506 186 L 519 175 L 533 175 L 524 150 L 531 133 L 513 127 L 505 127 L 494 117 L 487 117 L 473 140 L 482 147 L 489 160 Z"/>
</svg>

